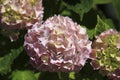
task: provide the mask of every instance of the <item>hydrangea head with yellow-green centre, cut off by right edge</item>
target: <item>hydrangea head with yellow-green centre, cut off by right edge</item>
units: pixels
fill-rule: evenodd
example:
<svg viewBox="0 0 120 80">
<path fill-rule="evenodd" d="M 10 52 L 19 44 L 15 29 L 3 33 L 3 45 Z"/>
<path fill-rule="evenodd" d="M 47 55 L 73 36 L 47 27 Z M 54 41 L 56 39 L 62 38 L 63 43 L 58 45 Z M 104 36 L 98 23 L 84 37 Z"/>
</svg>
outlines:
<svg viewBox="0 0 120 80">
<path fill-rule="evenodd" d="M 93 42 L 91 65 L 113 80 L 120 79 L 120 33 L 109 29 Z"/>
</svg>

